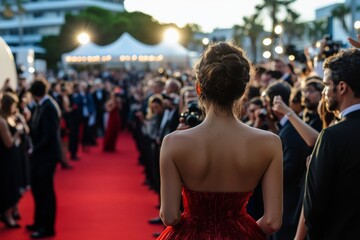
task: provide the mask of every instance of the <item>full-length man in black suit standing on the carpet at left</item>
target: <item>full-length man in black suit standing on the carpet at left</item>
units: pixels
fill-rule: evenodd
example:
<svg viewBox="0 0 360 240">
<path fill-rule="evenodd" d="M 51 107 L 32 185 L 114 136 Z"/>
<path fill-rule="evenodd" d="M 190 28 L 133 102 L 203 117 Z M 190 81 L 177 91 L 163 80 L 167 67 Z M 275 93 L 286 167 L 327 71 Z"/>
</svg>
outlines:
<svg viewBox="0 0 360 240">
<path fill-rule="evenodd" d="M 34 223 L 27 229 L 32 238 L 55 235 L 56 199 L 54 174 L 61 160 L 60 109 L 47 95 L 46 80 L 35 80 L 30 92 L 37 103 L 30 122 L 33 149 L 31 160 L 31 190 L 35 203 Z"/>
</svg>

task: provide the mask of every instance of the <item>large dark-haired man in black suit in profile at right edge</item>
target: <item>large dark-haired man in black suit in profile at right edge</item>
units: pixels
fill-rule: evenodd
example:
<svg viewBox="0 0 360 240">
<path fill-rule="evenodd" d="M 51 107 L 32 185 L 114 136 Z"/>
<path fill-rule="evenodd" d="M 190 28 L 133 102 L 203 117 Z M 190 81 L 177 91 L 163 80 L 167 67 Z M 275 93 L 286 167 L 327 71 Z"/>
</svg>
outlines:
<svg viewBox="0 0 360 240">
<path fill-rule="evenodd" d="M 339 123 L 315 144 L 304 198 L 308 239 L 357 239 L 360 227 L 360 50 L 324 62 L 323 95 Z"/>
</svg>

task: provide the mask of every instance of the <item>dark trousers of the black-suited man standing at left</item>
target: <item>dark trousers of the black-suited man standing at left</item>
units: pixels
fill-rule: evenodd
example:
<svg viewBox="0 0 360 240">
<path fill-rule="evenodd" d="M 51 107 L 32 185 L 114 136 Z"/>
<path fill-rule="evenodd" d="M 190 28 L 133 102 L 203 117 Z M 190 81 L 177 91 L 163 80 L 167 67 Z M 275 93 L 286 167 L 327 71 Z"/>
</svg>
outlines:
<svg viewBox="0 0 360 240">
<path fill-rule="evenodd" d="M 35 203 L 34 224 L 46 231 L 54 231 L 55 226 L 55 168 L 56 163 L 47 166 L 33 165 L 31 169 L 31 190 Z"/>
</svg>

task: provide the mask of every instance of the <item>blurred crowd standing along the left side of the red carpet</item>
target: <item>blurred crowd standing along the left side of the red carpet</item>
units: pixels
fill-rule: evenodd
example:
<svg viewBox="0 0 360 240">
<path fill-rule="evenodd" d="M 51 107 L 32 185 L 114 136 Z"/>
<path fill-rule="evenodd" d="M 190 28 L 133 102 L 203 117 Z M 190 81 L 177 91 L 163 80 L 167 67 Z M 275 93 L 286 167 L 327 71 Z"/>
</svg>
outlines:
<svg viewBox="0 0 360 240">
<path fill-rule="evenodd" d="M 13 89 L 5 81 L 0 93 L 0 219 L 20 228 L 17 205 L 25 191 L 34 198 L 32 238 L 55 235 L 54 174 L 58 164 L 69 170 L 88 151 L 102 144 L 116 152 L 122 126 L 124 87 L 114 79 L 49 82 L 41 75 L 28 84 L 19 77 Z M 103 141 L 98 141 L 99 137 Z"/>
</svg>

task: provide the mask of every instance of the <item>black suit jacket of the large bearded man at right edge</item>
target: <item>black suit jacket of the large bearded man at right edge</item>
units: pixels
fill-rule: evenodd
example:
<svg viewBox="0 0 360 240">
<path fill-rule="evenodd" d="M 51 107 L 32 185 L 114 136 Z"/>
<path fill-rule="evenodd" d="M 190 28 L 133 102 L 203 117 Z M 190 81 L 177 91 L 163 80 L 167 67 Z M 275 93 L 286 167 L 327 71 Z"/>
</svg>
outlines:
<svg viewBox="0 0 360 240">
<path fill-rule="evenodd" d="M 324 129 L 306 178 L 305 223 L 313 239 L 356 239 L 360 227 L 360 110 Z"/>
</svg>

